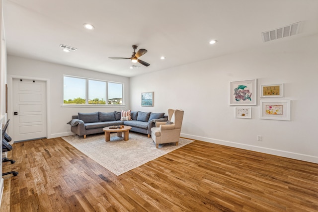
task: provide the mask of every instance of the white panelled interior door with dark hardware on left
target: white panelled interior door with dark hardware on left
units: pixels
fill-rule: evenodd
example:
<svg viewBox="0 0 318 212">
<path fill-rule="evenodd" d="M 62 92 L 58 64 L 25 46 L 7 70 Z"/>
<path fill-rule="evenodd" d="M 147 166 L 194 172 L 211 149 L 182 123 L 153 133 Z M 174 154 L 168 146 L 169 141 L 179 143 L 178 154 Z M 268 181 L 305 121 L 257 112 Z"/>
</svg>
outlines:
<svg viewBox="0 0 318 212">
<path fill-rule="evenodd" d="M 46 82 L 13 79 L 14 141 L 46 138 Z"/>
</svg>

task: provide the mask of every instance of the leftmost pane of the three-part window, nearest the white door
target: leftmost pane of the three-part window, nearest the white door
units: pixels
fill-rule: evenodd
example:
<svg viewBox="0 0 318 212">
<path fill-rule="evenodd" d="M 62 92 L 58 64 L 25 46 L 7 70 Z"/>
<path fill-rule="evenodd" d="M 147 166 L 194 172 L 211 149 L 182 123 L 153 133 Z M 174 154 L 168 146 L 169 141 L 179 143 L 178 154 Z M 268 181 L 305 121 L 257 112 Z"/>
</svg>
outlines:
<svg viewBox="0 0 318 212">
<path fill-rule="evenodd" d="M 64 104 L 85 104 L 86 79 L 64 76 Z"/>
</svg>

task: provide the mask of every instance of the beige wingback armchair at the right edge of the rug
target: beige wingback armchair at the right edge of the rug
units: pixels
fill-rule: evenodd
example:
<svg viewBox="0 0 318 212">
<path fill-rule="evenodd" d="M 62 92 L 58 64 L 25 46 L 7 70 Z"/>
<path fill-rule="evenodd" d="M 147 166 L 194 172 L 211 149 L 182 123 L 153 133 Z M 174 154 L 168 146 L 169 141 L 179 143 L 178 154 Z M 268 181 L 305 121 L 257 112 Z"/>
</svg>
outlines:
<svg viewBox="0 0 318 212">
<path fill-rule="evenodd" d="M 168 122 L 156 122 L 156 127 L 151 129 L 151 138 L 159 147 L 160 143 L 175 142 L 178 145 L 183 120 L 183 110 L 168 109 Z M 173 121 L 173 124 L 169 124 Z"/>
</svg>

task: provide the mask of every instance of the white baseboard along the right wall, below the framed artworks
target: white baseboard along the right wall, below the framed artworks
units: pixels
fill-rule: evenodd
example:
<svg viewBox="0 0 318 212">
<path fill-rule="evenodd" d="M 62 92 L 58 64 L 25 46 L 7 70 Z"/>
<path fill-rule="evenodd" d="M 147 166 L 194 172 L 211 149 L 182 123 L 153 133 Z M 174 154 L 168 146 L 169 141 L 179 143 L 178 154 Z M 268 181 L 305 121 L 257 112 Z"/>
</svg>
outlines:
<svg viewBox="0 0 318 212">
<path fill-rule="evenodd" d="M 193 135 L 183 134 L 183 133 L 181 133 L 180 136 L 183 138 L 188 138 L 188 139 L 205 141 L 205 142 L 226 145 L 226 146 L 231 146 L 231 147 L 236 147 L 236 148 L 241 148 L 241 149 L 246 149 L 246 150 L 251 150 L 251 151 L 262 152 L 262 153 L 266 153 L 266 154 L 273 154 L 273 155 L 277 155 L 277 156 L 288 157 L 288 158 L 292 158 L 292 159 L 296 159 L 296 160 L 303 160 L 303 161 L 307 161 L 307 162 L 318 163 L 318 157 L 313 156 L 313 155 L 300 154 L 300 153 L 296 153 L 296 152 L 283 151 L 283 150 L 279 150 L 279 149 L 272 149 L 272 148 L 266 148 L 266 147 L 255 146 L 255 145 L 248 145 L 248 144 L 232 142 L 232 141 L 211 139 L 211 138 L 206 138 L 206 137 L 201 137 L 201 136 L 193 136 Z"/>
</svg>

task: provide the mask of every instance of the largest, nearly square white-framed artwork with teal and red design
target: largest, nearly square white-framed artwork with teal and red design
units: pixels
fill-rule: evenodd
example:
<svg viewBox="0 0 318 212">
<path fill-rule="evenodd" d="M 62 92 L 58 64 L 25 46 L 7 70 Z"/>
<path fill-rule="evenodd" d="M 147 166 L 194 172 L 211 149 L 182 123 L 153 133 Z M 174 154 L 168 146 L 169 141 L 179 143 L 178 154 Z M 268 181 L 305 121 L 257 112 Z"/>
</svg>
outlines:
<svg viewBox="0 0 318 212">
<path fill-rule="evenodd" d="M 230 105 L 256 105 L 256 79 L 231 81 Z"/>
</svg>

